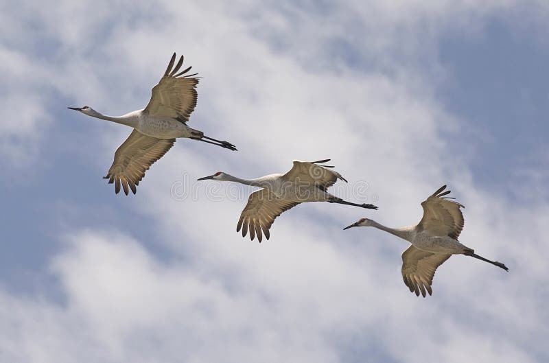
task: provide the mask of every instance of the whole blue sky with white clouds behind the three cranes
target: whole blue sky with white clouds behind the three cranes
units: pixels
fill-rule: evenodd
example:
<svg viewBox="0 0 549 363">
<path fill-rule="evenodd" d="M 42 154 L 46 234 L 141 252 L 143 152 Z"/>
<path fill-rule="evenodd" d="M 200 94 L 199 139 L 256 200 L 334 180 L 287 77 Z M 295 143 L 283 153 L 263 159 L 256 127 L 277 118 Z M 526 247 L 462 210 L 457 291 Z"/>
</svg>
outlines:
<svg viewBox="0 0 549 363">
<path fill-rule="evenodd" d="M 0 4 L 1 362 L 547 362 L 545 1 Z M 172 53 L 203 77 L 189 126 L 136 196 L 102 176 Z M 254 178 L 331 158 L 327 203 L 235 233 Z M 441 185 L 464 256 L 433 296 L 400 276 Z"/>
</svg>

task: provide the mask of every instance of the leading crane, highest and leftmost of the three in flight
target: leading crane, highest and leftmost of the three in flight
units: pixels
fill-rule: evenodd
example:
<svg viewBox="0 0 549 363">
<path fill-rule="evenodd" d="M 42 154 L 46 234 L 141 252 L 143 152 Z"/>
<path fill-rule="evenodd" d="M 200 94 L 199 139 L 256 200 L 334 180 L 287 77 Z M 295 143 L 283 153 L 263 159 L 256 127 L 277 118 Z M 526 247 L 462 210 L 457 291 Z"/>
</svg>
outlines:
<svg viewBox="0 0 549 363">
<path fill-rule="evenodd" d="M 228 141 L 212 139 L 205 136 L 204 132 L 187 126 L 189 116 L 196 106 L 196 84 L 199 78 L 193 77 L 198 73 L 185 74 L 191 67 L 177 73 L 183 65 L 183 56 L 174 67 L 175 60 L 174 53 L 159 84 L 152 88 L 149 103 L 142 110 L 113 117 L 102 115 L 89 106 L 69 107 L 84 115 L 134 128 L 128 139 L 116 150 L 115 161 L 104 176 L 109 184 L 115 183 L 117 194 L 120 185 L 126 196 L 129 189 L 135 194 L 136 186 L 145 176 L 145 171 L 172 148 L 178 137 L 188 137 L 236 150 L 235 145 Z"/>
</svg>

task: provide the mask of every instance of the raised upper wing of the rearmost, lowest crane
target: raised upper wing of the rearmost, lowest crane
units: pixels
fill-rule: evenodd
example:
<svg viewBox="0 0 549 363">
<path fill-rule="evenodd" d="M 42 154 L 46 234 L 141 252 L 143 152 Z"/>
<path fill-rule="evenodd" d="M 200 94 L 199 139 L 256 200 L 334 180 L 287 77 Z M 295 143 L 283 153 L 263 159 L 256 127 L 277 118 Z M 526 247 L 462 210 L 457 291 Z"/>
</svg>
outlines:
<svg viewBox="0 0 549 363">
<path fill-rule="evenodd" d="M 432 235 L 449 236 L 458 239 L 463 230 L 462 204 L 454 202 L 452 197 L 445 197 L 450 193 L 444 191 L 446 185 L 435 191 L 427 200 L 421 203 L 423 218 L 418 224 L 419 229 L 429 231 Z"/>
</svg>

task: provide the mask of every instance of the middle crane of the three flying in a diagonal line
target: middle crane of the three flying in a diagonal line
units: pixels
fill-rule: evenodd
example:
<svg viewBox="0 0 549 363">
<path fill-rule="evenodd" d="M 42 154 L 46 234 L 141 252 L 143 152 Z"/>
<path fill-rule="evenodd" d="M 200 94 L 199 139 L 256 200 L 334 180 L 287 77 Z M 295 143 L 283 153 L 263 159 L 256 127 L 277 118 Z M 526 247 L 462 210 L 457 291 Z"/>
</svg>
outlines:
<svg viewBox="0 0 549 363">
<path fill-rule="evenodd" d="M 283 211 L 295 207 L 303 202 L 330 202 L 354 205 L 367 209 L 377 209 L 372 204 L 357 204 L 347 202 L 336 196 L 332 196 L 327 189 L 334 185 L 338 179 L 347 183 L 338 172 L 327 169 L 331 165 L 319 165 L 330 159 L 319 161 L 294 160 L 294 166 L 286 174 L 270 174 L 257 179 L 241 179 L 224 172 L 217 172 L 211 176 L 205 176 L 198 180 L 225 180 L 261 187 L 250 194 L 248 204 L 240 215 L 236 231 L 242 228 L 242 237 L 246 237 L 248 230 L 250 238 L 257 239 L 261 243 L 263 238 L 261 231 L 269 239 L 269 229 Z"/>
</svg>

